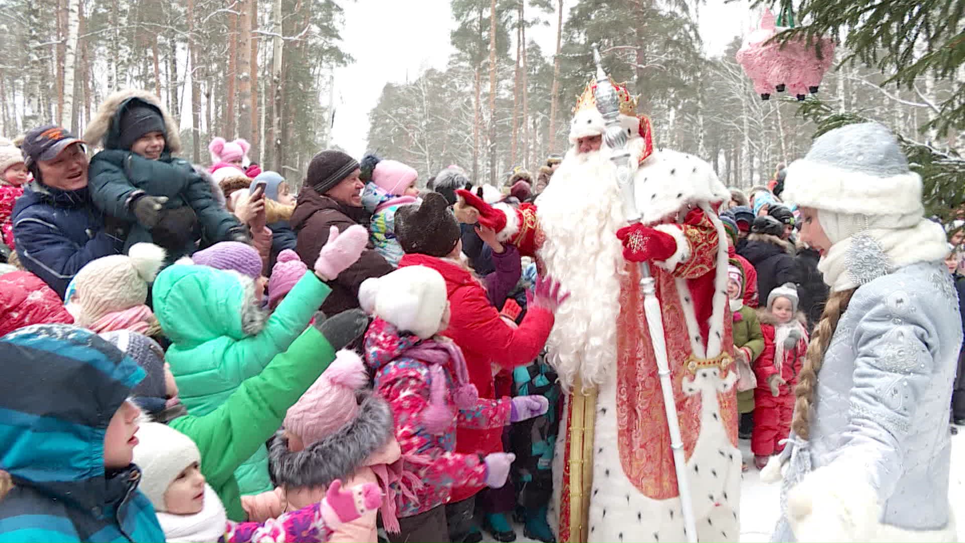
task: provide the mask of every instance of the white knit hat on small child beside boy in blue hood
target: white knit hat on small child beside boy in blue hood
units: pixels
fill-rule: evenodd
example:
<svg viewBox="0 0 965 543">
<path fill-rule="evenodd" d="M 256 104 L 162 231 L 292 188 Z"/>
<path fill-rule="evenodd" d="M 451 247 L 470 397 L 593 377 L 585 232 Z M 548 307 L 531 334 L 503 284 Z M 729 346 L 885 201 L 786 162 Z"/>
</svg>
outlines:
<svg viewBox="0 0 965 543">
<path fill-rule="evenodd" d="M 198 445 L 178 430 L 159 422 L 141 424 L 134 447 L 134 464 L 141 469 L 138 489 L 151 500 L 154 510 L 165 512 L 164 493 L 180 472 L 194 464 L 201 465 Z"/>
</svg>

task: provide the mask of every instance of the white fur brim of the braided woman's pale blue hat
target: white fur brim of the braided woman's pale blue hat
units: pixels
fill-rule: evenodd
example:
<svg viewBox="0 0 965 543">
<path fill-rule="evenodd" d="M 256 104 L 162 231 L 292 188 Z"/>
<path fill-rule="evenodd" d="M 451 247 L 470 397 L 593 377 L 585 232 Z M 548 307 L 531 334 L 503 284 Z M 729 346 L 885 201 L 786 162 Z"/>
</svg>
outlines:
<svg viewBox="0 0 965 543">
<path fill-rule="evenodd" d="M 918 214 L 922 178 L 917 173 L 875 177 L 805 158 L 787 167 L 786 202 L 841 214 Z"/>
</svg>

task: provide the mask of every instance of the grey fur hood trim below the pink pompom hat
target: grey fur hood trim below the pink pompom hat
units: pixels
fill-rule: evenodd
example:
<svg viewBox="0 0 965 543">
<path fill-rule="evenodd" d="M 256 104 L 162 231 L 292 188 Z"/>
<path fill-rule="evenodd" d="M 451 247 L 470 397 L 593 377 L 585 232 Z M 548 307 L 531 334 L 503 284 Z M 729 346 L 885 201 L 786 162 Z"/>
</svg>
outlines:
<svg viewBox="0 0 965 543">
<path fill-rule="evenodd" d="M 303 450 L 289 450 L 289 439 L 279 432 L 268 450 L 268 465 L 275 486 L 287 489 L 327 487 L 361 468 L 388 464 L 398 458 L 377 455 L 395 434 L 392 409 L 371 391 L 360 392 L 358 415 L 334 434 Z"/>
</svg>

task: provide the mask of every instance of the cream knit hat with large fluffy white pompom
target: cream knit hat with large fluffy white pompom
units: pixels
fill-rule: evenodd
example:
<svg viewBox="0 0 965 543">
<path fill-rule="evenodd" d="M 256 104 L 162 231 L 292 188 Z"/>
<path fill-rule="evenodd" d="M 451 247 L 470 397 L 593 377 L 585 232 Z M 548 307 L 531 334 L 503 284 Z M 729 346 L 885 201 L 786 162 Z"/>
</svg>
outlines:
<svg viewBox="0 0 965 543">
<path fill-rule="evenodd" d="M 104 256 L 87 263 L 73 278 L 80 309 L 78 326 L 90 326 L 108 313 L 148 300 L 148 284 L 164 265 L 165 252 L 152 243 L 134 243 L 126 255 Z M 70 300 L 65 300 L 70 301 Z"/>
</svg>

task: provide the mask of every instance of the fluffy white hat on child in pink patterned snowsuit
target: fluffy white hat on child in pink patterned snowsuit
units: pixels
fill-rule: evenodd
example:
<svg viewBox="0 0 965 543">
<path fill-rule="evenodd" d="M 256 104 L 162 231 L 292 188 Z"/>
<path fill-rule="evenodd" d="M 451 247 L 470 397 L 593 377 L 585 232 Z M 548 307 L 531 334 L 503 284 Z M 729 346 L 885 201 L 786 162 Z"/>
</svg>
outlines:
<svg viewBox="0 0 965 543">
<path fill-rule="evenodd" d="M 449 307 L 446 280 L 425 266 L 407 266 L 381 277 L 366 279 L 359 303 L 367 313 L 423 339 L 439 331 Z"/>
</svg>

